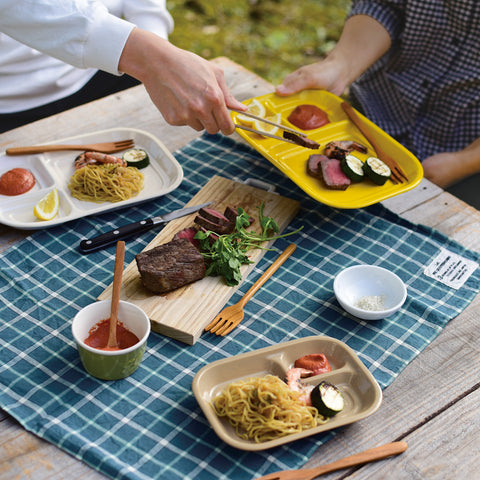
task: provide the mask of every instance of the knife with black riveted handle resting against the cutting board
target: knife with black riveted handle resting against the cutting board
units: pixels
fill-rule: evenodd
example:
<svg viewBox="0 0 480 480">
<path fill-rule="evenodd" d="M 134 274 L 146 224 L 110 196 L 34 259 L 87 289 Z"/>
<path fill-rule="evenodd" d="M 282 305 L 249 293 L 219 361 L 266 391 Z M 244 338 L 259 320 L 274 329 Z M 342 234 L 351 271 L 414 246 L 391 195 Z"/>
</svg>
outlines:
<svg viewBox="0 0 480 480">
<path fill-rule="evenodd" d="M 202 203 L 200 205 L 194 205 L 191 207 L 181 208 L 180 210 L 175 210 L 173 212 L 166 213 L 164 215 L 158 215 L 157 217 L 146 218 L 140 220 L 139 222 L 128 223 L 122 227 L 118 227 L 110 232 L 102 233 L 97 237 L 84 239 L 80 242 L 80 251 L 82 253 L 90 253 L 100 248 L 104 248 L 112 243 L 116 243 L 118 240 L 123 240 L 125 238 L 131 237 L 136 233 L 143 233 L 147 230 L 150 230 L 156 225 L 162 223 L 167 223 L 176 218 L 184 217 L 190 213 L 197 212 L 201 208 L 205 208 L 208 205 L 211 205 L 213 202 Z"/>
</svg>

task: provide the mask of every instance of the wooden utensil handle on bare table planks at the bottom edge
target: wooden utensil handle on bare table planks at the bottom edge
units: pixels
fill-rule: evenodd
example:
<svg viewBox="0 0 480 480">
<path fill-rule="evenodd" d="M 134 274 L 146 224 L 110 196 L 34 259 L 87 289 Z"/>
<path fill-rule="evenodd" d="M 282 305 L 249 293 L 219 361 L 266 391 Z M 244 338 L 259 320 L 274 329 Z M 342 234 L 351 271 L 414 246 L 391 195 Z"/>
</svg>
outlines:
<svg viewBox="0 0 480 480">
<path fill-rule="evenodd" d="M 364 463 L 382 460 L 392 455 L 398 455 L 408 448 L 405 442 L 391 442 L 380 447 L 370 448 L 355 455 L 327 463 L 321 467 L 304 468 L 299 470 L 283 470 L 281 472 L 270 473 L 257 480 L 313 480 L 324 473 L 335 472 L 342 468 L 355 467 Z"/>
</svg>

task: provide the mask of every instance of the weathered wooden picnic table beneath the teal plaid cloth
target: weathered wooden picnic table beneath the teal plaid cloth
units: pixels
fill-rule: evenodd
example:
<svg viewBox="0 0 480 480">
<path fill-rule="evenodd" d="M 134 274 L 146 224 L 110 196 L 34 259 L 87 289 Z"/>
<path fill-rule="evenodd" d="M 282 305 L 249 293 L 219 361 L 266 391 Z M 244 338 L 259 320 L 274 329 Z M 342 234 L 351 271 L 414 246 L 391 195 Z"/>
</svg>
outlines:
<svg viewBox="0 0 480 480">
<path fill-rule="evenodd" d="M 227 83 L 240 101 L 272 92 L 270 83 L 229 59 L 213 61 L 224 68 Z M 171 151 L 200 135 L 188 127 L 168 125 L 143 86 L 138 86 L 1 134 L 0 150 L 119 125 L 146 130 L 160 138 Z M 462 245 L 480 251 L 480 212 L 428 180 L 383 203 L 405 219 L 436 228 Z M 0 225 L 0 252 L 29 233 Z M 324 478 L 478 478 L 479 319 L 480 295 L 477 295 L 384 390 L 379 410 L 341 429 L 335 438 L 317 450 L 306 466 L 321 465 L 390 441 L 404 440 L 409 448 L 396 458 Z M 0 410 L 1 480 L 53 480 L 66 475 L 70 480 L 106 478 L 27 432 Z"/>
</svg>

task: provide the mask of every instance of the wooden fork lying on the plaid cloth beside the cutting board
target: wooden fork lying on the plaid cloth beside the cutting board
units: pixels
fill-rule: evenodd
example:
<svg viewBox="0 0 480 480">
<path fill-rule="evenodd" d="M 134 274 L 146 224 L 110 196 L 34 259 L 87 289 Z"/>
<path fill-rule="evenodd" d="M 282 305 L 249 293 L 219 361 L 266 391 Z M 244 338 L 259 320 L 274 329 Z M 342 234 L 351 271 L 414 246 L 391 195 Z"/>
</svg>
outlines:
<svg viewBox="0 0 480 480">
<path fill-rule="evenodd" d="M 206 327 L 205 331 L 225 336 L 243 320 L 243 307 L 253 294 L 278 270 L 280 265 L 295 251 L 297 246 L 291 243 L 281 255 L 268 267 L 263 275 L 250 287 L 248 292 L 235 305 L 224 308 Z"/>
</svg>

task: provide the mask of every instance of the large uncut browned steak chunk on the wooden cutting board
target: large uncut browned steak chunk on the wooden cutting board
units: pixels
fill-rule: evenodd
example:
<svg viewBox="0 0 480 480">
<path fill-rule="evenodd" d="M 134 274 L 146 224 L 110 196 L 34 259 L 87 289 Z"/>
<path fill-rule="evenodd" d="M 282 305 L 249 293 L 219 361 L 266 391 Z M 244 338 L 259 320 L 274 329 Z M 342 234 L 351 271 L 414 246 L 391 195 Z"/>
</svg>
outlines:
<svg viewBox="0 0 480 480">
<path fill-rule="evenodd" d="M 174 239 L 135 256 L 145 288 L 167 293 L 205 277 L 202 254 L 187 239 Z"/>
</svg>

